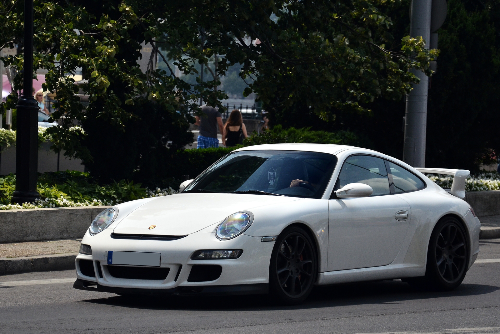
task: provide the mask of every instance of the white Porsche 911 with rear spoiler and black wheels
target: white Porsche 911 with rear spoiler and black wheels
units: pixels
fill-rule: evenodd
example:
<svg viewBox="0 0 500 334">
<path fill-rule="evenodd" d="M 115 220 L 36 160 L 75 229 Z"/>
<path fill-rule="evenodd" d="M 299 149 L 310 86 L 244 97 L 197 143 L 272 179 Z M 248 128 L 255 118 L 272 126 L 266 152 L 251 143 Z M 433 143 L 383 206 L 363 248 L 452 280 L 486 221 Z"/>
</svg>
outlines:
<svg viewBox="0 0 500 334">
<path fill-rule="evenodd" d="M 423 173 L 454 175 L 446 191 Z M 181 192 L 102 211 L 74 287 L 117 294 L 271 293 L 398 279 L 450 290 L 479 252 L 466 170 L 412 168 L 351 146 L 237 149 Z"/>
</svg>

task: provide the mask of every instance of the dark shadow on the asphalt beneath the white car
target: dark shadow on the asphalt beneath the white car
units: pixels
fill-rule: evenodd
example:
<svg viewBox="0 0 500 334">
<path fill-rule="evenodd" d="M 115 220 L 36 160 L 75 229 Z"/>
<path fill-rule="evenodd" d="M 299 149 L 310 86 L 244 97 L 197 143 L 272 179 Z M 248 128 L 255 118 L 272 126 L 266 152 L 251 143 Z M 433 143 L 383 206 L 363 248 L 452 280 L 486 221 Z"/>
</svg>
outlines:
<svg viewBox="0 0 500 334">
<path fill-rule="evenodd" d="M 311 295 L 301 305 L 277 305 L 267 295 L 248 296 L 111 296 L 87 299 L 90 302 L 122 307 L 144 309 L 176 310 L 262 310 L 262 309 L 303 309 L 312 307 L 332 307 L 363 304 L 398 304 L 405 300 L 430 299 L 453 296 L 471 296 L 491 293 L 498 286 L 481 284 L 461 284 L 450 292 L 419 291 L 400 280 L 377 281 L 316 286 Z"/>
</svg>

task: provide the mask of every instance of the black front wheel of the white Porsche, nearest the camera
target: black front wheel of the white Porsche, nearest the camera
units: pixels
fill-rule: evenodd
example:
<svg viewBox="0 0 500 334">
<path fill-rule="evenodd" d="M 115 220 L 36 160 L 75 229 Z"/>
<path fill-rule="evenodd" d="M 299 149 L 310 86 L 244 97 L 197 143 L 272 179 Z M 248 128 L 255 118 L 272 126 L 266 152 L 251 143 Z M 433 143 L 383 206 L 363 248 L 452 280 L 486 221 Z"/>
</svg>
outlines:
<svg viewBox="0 0 500 334">
<path fill-rule="evenodd" d="M 301 303 L 317 274 L 316 249 L 300 227 L 286 228 L 276 239 L 269 265 L 269 292 L 281 303 Z"/>
</svg>

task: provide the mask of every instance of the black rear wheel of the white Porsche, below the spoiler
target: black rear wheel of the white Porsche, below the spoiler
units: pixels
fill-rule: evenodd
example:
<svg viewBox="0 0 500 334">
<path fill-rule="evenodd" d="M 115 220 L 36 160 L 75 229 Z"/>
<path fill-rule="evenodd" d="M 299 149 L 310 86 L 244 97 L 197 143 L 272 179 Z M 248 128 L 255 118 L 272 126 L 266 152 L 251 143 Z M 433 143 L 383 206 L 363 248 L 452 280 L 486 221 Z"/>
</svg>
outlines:
<svg viewBox="0 0 500 334">
<path fill-rule="evenodd" d="M 439 290 L 452 290 L 467 272 L 468 243 L 465 231 L 454 217 L 439 220 L 427 251 L 426 279 Z"/>
</svg>

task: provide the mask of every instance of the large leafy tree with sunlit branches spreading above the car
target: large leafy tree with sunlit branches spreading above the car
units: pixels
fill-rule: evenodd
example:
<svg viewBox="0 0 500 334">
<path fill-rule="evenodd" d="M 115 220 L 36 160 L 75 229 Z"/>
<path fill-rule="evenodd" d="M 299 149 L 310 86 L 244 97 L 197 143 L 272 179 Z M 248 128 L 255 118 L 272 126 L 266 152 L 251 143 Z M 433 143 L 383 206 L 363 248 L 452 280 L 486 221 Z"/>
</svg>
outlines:
<svg viewBox="0 0 500 334">
<path fill-rule="evenodd" d="M 144 117 L 138 108 L 155 106 L 160 117 L 153 119 L 173 127 L 156 132 L 159 137 L 127 163 L 129 172 L 141 170 L 140 157 L 150 154 L 150 147 L 176 148 L 185 143 L 177 141 L 172 131 L 193 122 L 189 112 L 199 110 L 200 98 L 223 108 L 220 99 L 226 97 L 216 89 L 218 80 L 195 77 L 195 82 L 187 82 L 176 77 L 168 59 L 182 73 L 196 75 L 196 63 L 206 65 L 217 55 L 213 77 L 239 64 L 240 76 L 251 81 L 245 94 L 258 93 L 270 112 L 305 108 L 323 120 L 343 111 L 364 112 L 363 104 L 376 96 L 397 99 L 407 92 L 417 81 L 408 69 L 430 73 L 428 61 L 437 54 L 424 50 L 423 41 L 407 37 L 398 51 L 385 47 L 390 20 L 376 7 L 391 4 L 382 0 L 35 1 L 34 69 L 48 70 L 44 88 L 57 94 L 52 118 L 62 125 L 47 131 L 54 147 L 82 158 L 90 170 L 103 168 L 102 164 L 112 167 L 101 158 L 102 147 L 112 149 L 112 143 L 101 141 L 101 147 L 90 143 L 99 143 L 104 132 L 102 138 L 134 131 L 130 127 Z M 22 49 L 22 15 L 16 13 L 22 13 L 22 4 L 4 0 L 2 48 Z M 141 43 L 154 49 L 167 70 L 140 71 Z M 20 54 L 3 62 L 22 70 Z M 77 68 L 86 80 L 79 87 L 67 76 Z M 20 75 L 14 83 L 19 89 Z M 78 89 L 89 97 L 85 110 Z M 13 93 L 5 107 L 13 107 L 16 100 Z M 75 122 L 84 132 L 72 129 Z"/>
</svg>

